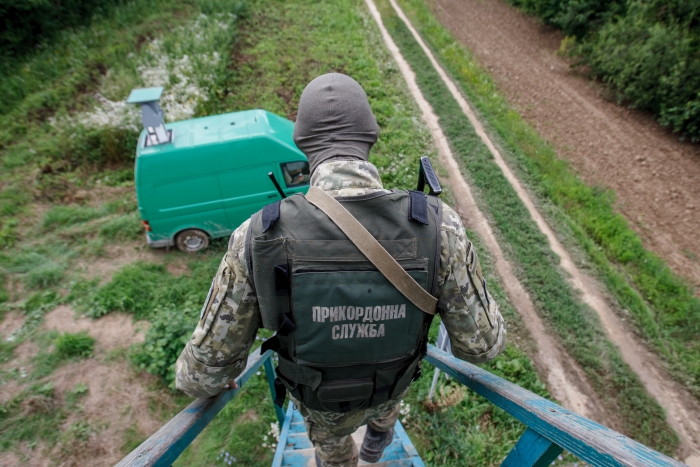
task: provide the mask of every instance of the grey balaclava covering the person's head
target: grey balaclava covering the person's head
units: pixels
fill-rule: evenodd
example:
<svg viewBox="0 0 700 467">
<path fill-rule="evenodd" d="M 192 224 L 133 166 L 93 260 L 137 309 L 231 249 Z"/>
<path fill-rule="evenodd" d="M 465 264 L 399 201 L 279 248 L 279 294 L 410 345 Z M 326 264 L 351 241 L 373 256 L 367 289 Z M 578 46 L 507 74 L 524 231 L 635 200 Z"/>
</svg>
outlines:
<svg viewBox="0 0 700 467">
<path fill-rule="evenodd" d="M 312 174 L 332 158 L 366 161 L 378 135 L 367 94 L 349 76 L 321 75 L 301 93 L 294 142 L 309 159 Z"/>
</svg>

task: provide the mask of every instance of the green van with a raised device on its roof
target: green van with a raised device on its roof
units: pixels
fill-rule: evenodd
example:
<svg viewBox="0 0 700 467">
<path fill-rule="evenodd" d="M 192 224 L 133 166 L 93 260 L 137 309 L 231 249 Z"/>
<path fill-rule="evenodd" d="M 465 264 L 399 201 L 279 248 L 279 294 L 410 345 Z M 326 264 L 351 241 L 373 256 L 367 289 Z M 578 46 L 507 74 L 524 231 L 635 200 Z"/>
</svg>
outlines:
<svg viewBox="0 0 700 467">
<path fill-rule="evenodd" d="M 287 119 L 247 110 L 166 123 L 166 136 L 161 128 L 146 126 L 136 151 L 136 197 L 151 247 L 191 253 L 230 235 L 280 199 L 268 172 L 287 195 L 309 188 L 309 164 Z"/>
</svg>

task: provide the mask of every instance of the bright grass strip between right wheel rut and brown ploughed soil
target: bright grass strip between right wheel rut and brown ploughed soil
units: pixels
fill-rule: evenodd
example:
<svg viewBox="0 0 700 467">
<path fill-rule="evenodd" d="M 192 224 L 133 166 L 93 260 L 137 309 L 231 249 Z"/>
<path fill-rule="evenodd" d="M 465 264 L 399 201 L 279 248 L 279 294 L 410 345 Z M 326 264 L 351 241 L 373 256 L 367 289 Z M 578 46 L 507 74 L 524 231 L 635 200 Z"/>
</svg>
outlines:
<svg viewBox="0 0 700 467">
<path fill-rule="evenodd" d="M 504 157 L 557 217 L 596 266 L 620 307 L 668 364 L 672 375 L 700 398 L 700 300 L 694 290 L 646 250 L 614 208 L 614 193 L 584 184 L 554 149 L 500 95 L 471 54 L 420 0 L 401 4 L 438 61 L 481 112 Z"/>
</svg>

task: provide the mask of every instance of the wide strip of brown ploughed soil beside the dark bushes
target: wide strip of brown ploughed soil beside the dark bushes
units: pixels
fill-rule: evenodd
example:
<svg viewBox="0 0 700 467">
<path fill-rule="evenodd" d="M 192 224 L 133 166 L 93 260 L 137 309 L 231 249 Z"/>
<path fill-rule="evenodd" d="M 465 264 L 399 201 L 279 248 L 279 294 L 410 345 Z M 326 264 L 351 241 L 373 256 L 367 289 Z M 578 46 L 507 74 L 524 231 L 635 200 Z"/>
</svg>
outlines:
<svg viewBox="0 0 700 467">
<path fill-rule="evenodd" d="M 601 97 L 556 55 L 561 34 L 500 0 L 433 0 L 508 101 L 583 179 L 617 193 L 645 245 L 700 285 L 700 145 Z"/>
</svg>

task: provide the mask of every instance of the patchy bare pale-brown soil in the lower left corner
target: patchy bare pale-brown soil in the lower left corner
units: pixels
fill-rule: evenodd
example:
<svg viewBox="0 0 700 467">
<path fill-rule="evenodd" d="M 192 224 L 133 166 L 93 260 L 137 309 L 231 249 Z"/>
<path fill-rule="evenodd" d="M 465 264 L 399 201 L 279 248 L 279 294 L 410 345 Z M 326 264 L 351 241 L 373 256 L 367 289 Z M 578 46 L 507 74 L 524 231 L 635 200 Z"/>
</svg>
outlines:
<svg viewBox="0 0 700 467">
<path fill-rule="evenodd" d="M 0 322 L 0 338 L 6 338 L 21 326 L 23 319 L 17 313 L 6 314 Z M 66 435 L 55 446 L 16 446 L 15 451 L 0 453 L 0 465 L 111 466 L 123 457 L 122 449 L 129 432 L 132 433 L 131 437 L 146 438 L 160 428 L 162 420 L 154 415 L 153 407 L 172 407 L 171 395 L 151 389 L 159 387 L 154 376 L 137 372 L 124 359 L 110 357 L 111 351 L 143 342 L 147 324 L 133 322 L 132 316 L 126 313 L 110 313 L 98 320 L 91 320 L 77 316 L 68 306 L 59 306 L 48 313 L 41 330 L 87 331 L 96 340 L 95 357 L 61 366 L 45 378 L 45 381 L 55 385 L 54 397 L 38 402 L 58 407 L 78 383 L 87 385 L 88 391 L 79 401 L 79 410 L 69 411 L 61 431 L 70 433 L 71 425 L 81 422 L 87 423 L 89 435 L 86 439 Z M 14 358 L 3 367 L 23 366 L 29 373 L 31 361 L 38 351 L 39 347 L 28 340 L 15 349 Z M 25 387 L 16 380 L 8 381 L 2 386 L 0 402 L 18 394 Z"/>
</svg>

